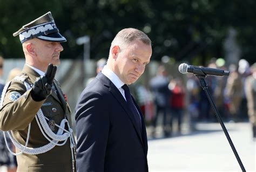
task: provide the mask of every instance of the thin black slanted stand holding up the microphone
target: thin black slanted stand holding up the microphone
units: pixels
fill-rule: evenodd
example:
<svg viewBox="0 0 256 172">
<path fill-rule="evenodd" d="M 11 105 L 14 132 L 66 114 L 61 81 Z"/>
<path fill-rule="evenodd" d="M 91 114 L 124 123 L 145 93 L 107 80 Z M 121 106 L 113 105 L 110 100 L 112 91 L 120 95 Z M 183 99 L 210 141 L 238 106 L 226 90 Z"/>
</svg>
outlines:
<svg viewBox="0 0 256 172">
<path fill-rule="evenodd" d="M 234 153 L 235 157 L 237 158 L 237 161 L 238 161 L 238 163 L 240 165 L 240 168 L 241 168 L 242 172 L 245 172 L 246 170 L 244 168 L 244 165 L 242 164 L 242 162 L 240 160 L 240 157 L 239 157 L 239 155 L 237 153 L 237 150 L 235 150 L 235 147 L 234 147 L 233 142 L 232 142 L 232 140 L 230 138 L 230 135 L 227 132 L 227 129 L 226 129 L 224 123 L 223 123 L 223 120 L 221 119 L 220 114 L 219 114 L 219 112 L 217 110 L 217 107 L 216 107 L 216 105 L 215 105 L 215 103 L 214 103 L 214 101 L 212 99 L 210 91 L 208 90 L 207 84 L 205 82 L 206 75 L 204 75 L 204 74 L 196 74 L 196 76 L 198 77 L 198 79 L 200 81 L 200 85 L 203 88 L 203 90 L 205 91 L 208 100 L 210 101 L 210 104 L 211 104 L 211 106 L 213 108 L 213 111 L 214 111 L 215 115 L 217 116 L 217 119 L 218 119 L 221 127 L 223 128 L 223 131 L 224 131 L 224 133 L 225 133 L 225 135 L 227 137 L 228 142 L 230 143 L 230 146 L 231 146 L 231 148 L 233 150 L 233 153 Z"/>
</svg>

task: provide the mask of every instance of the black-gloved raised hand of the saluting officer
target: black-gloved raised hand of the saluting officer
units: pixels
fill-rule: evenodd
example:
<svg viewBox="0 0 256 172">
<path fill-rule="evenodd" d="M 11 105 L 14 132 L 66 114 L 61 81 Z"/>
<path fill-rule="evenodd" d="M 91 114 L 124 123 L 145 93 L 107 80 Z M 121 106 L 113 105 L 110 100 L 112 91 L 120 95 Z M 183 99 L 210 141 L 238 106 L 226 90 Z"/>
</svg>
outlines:
<svg viewBox="0 0 256 172">
<path fill-rule="evenodd" d="M 36 79 L 32 87 L 31 97 L 35 101 L 42 101 L 51 94 L 51 87 L 57 71 L 57 66 L 49 64 L 44 76 Z"/>
</svg>

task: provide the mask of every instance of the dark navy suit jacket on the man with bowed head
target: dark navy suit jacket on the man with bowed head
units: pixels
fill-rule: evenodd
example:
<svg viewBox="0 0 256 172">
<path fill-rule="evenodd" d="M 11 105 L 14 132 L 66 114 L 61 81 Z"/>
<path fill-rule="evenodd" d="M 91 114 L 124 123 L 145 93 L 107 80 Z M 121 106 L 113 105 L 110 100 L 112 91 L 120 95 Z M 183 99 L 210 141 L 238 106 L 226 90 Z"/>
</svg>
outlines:
<svg viewBox="0 0 256 172">
<path fill-rule="evenodd" d="M 137 109 L 142 132 L 118 88 L 101 72 L 97 75 L 76 106 L 78 171 L 148 171 L 146 128 Z"/>
</svg>

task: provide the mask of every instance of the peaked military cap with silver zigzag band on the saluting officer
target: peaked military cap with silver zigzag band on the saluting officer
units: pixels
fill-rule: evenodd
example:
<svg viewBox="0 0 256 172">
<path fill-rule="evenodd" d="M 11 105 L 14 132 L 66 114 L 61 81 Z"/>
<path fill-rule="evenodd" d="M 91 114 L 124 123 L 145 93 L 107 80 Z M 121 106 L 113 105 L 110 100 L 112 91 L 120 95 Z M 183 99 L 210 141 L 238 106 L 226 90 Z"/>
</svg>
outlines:
<svg viewBox="0 0 256 172">
<path fill-rule="evenodd" d="M 21 43 L 33 38 L 49 42 L 66 42 L 66 38 L 60 35 L 51 12 L 47 12 L 45 15 L 25 24 L 13 35 L 14 37 L 19 35 Z"/>
</svg>

